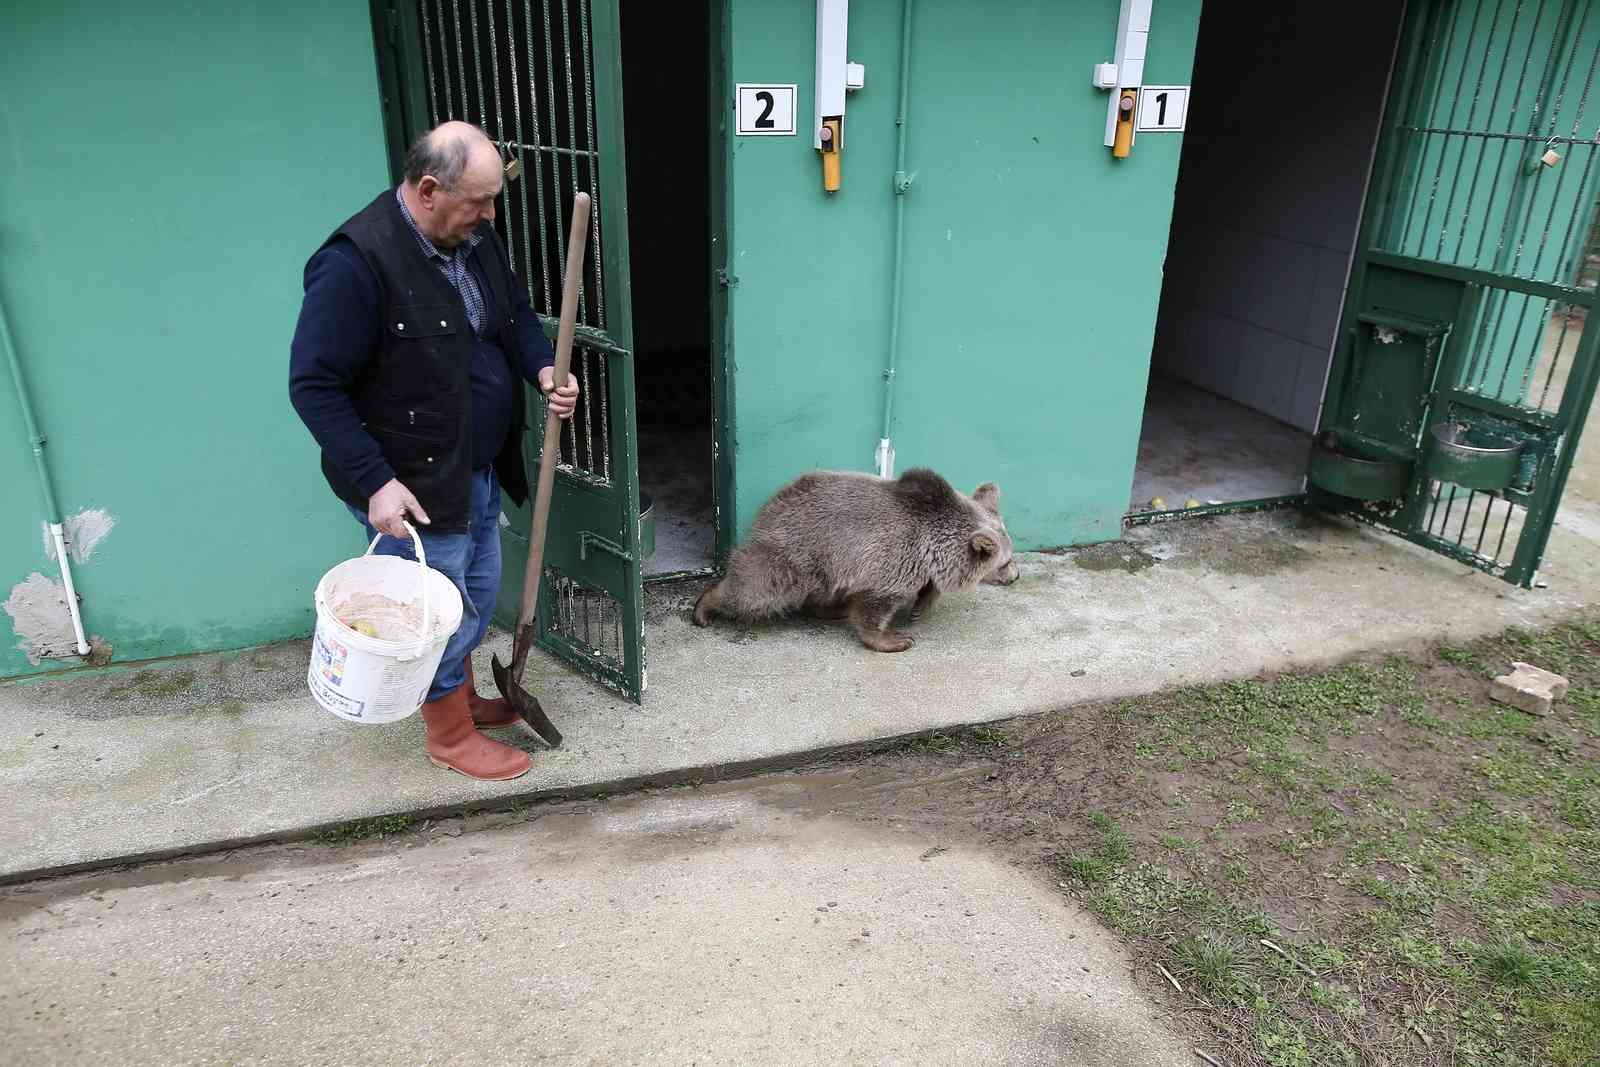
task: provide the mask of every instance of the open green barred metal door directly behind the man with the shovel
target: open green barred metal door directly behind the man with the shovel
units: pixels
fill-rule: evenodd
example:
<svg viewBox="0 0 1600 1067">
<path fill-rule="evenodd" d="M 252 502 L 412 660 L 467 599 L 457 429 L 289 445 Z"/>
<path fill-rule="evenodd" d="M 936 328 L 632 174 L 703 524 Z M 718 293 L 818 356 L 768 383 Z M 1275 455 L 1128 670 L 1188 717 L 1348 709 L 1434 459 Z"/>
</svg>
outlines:
<svg viewBox="0 0 1600 1067">
<path fill-rule="evenodd" d="M 461 118 L 520 162 L 494 226 L 552 338 L 573 195 L 594 198 L 573 346 L 582 394 L 562 435 L 539 645 L 638 701 L 645 629 L 618 0 L 384 0 L 374 18 L 395 142 Z M 531 474 L 544 440 L 536 395 L 528 421 Z M 509 625 L 531 510 L 504 506 L 496 617 Z"/>
</svg>

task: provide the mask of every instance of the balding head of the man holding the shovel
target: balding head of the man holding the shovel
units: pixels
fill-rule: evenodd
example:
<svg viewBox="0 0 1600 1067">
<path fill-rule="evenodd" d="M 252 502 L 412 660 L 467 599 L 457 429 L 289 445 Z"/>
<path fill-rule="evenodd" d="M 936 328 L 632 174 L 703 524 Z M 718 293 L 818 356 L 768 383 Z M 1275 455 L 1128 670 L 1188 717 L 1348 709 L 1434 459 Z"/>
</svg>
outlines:
<svg viewBox="0 0 1600 1067">
<path fill-rule="evenodd" d="M 422 234 L 440 248 L 454 248 L 494 221 L 502 186 L 499 150 L 488 134 L 467 122 L 446 122 L 411 146 L 400 194 Z"/>
</svg>

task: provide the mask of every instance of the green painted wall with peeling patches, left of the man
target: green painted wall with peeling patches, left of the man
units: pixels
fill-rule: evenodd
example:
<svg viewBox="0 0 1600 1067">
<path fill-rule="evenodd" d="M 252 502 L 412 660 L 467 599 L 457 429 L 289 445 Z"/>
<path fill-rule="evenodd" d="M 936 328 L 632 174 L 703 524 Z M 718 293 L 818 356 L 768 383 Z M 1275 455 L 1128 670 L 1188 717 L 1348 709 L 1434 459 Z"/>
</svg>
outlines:
<svg viewBox="0 0 1600 1067">
<path fill-rule="evenodd" d="M 387 182 L 365 2 L 162 6 L 0 5 L 0 299 L 62 509 L 117 523 L 75 577 L 118 661 L 306 633 L 360 549 L 286 360 L 306 258 Z M 3 600 L 56 569 L 0 394 Z"/>
</svg>

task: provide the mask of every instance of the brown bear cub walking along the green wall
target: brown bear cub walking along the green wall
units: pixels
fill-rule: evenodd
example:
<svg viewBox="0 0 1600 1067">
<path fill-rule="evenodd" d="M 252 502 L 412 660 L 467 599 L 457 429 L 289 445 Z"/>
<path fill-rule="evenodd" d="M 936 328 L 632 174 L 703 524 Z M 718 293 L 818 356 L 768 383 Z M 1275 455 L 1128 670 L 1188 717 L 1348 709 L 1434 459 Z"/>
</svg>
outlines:
<svg viewBox="0 0 1600 1067">
<path fill-rule="evenodd" d="M 917 619 L 939 593 L 1016 581 L 998 504 L 992 483 L 963 496 L 926 469 L 802 475 L 762 506 L 726 577 L 694 603 L 694 625 L 803 611 L 848 617 L 867 648 L 904 651 L 912 640 L 890 630 L 901 611 Z"/>
</svg>

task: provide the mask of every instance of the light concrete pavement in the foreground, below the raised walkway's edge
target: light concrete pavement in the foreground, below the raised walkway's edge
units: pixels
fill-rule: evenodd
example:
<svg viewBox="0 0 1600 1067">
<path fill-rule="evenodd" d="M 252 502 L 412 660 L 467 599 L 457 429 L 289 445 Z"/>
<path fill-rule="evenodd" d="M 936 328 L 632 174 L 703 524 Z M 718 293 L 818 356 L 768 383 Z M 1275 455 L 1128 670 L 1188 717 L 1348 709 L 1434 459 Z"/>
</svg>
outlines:
<svg viewBox="0 0 1600 1067">
<path fill-rule="evenodd" d="M 162 1067 L 1197 1064 L 1115 934 L 1042 872 L 850 813 L 918 784 L 778 776 L 0 889 L 0 1048 Z"/>
</svg>

